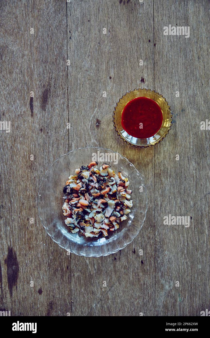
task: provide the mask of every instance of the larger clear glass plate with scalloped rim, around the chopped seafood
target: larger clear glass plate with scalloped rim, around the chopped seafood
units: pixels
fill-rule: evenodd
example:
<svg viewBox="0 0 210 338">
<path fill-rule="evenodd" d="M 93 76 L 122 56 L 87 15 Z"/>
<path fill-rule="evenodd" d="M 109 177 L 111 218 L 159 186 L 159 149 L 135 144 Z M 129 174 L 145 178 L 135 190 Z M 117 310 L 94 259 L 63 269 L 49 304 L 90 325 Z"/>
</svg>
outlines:
<svg viewBox="0 0 210 338">
<path fill-rule="evenodd" d="M 128 177 L 133 200 L 131 212 L 127 214 L 128 218 L 120 223 L 119 229 L 109 232 L 108 237 L 96 239 L 86 238 L 78 233 L 72 234 L 64 223 L 62 211 L 63 187 L 66 180 L 69 175 L 74 174 L 75 169 L 92 162 L 93 154 L 104 156 L 101 161 L 97 161 L 99 167 L 108 163 L 115 172 L 120 170 Z M 109 149 L 80 148 L 61 156 L 47 170 L 39 187 L 38 212 L 47 233 L 62 248 L 86 257 L 107 256 L 123 249 L 138 235 L 146 217 L 147 193 L 140 173 L 125 157 Z"/>
</svg>

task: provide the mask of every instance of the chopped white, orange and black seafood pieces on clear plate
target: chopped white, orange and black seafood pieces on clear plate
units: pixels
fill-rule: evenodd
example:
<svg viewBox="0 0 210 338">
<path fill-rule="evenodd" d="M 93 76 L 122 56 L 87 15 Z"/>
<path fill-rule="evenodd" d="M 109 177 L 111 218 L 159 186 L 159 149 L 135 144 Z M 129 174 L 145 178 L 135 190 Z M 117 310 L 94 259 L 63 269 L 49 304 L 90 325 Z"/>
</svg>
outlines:
<svg viewBox="0 0 210 338">
<path fill-rule="evenodd" d="M 63 188 L 65 224 L 73 234 L 90 238 L 107 237 L 109 231 L 117 230 L 133 205 L 128 178 L 121 171 L 116 174 L 107 163 L 99 169 L 97 165 L 91 162 L 76 169 Z"/>
</svg>

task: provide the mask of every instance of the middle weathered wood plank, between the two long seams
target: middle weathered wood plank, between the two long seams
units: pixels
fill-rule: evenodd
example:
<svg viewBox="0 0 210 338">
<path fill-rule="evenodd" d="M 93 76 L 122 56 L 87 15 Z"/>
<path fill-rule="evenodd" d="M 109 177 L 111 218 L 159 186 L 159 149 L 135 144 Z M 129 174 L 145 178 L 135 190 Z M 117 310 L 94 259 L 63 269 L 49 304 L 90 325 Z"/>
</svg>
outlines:
<svg viewBox="0 0 210 338">
<path fill-rule="evenodd" d="M 92 145 L 121 153 L 145 176 L 149 196 L 143 230 L 126 248 L 97 259 L 71 255 L 72 314 L 152 315 L 154 148 L 124 144 L 114 131 L 112 115 L 127 91 L 153 87 L 153 8 L 137 1 L 89 1 L 88 6 L 84 1 L 72 1 L 67 3 L 67 18 L 69 147 Z M 103 97 L 104 91 L 107 97 Z M 78 113 L 82 127 L 73 120 Z"/>
</svg>

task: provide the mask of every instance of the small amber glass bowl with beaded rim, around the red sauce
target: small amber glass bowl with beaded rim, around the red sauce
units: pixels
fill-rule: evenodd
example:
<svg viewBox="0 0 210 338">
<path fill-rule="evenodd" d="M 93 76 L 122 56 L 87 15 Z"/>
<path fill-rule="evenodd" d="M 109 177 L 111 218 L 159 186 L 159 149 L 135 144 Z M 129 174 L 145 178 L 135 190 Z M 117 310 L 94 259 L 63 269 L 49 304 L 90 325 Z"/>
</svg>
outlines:
<svg viewBox="0 0 210 338">
<path fill-rule="evenodd" d="M 121 124 L 122 112 L 124 107 L 129 101 L 131 101 L 136 97 L 147 97 L 149 99 L 154 100 L 159 105 L 162 111 L 163 119 L 160 129 L 156 132 L 154 136 L 146 139 L 138 139 L 136 137 L 129 135 L 123 129 Z M 172 114 L 168 102 L 164 97 L 162 97 L 161 94 L 155 92 L 154 90 L 140 88 L 131 90 L 129 93 L 123 95 L 121 99 L 119 99 L 113 113 L 113 122 L 117 134 L 124 142 L 134 147 L 147 148 L 154 146 L 155 144 L 162 141 L 164 137 L 166 137 L 169 130 L 171 129 Z"/>
</svg>

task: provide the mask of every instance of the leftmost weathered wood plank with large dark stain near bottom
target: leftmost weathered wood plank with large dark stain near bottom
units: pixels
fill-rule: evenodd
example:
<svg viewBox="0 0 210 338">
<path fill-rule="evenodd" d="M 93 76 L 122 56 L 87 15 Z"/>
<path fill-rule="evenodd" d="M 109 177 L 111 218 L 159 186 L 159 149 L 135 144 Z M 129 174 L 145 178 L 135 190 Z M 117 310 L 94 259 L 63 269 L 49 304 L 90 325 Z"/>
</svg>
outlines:
<svg viewBox="0 0 210 338">
<path fill-rule="evenodd" d="M 0 112 L 11 121 L 9 133 L 0 131 L 0 306 L 11 315 L 66 315 L 69 256 L 46 234 L 36 203 L 42 176 L 68 151 L 66 4 L 1 2 L 0 22 Z"/>
</svg>

